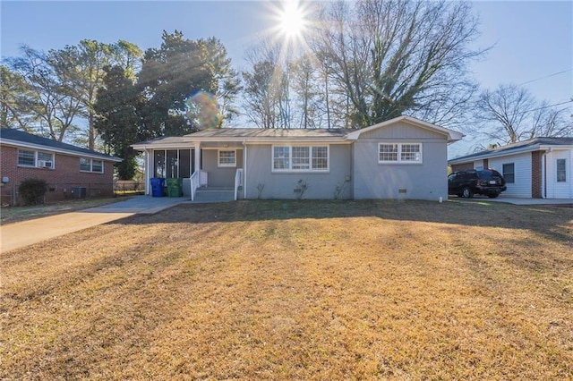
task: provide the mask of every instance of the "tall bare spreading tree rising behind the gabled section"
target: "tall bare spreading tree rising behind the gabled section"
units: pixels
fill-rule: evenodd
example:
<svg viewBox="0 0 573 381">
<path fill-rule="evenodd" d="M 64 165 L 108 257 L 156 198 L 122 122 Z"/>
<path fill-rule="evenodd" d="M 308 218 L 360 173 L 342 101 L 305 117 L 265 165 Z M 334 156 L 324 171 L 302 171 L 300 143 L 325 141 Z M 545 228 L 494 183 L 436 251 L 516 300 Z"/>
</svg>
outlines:
<svg viewBox="0 0 573 381">
<path fill-rule="evenodd" d="M 476 37 L 466 2 L 362 0 L 325 8 L 312 46 L 328 57 L 353 126 L 400 114 L 452 123 L 475 89 L 466 64 L 482 53 L 468 47 Z"/>
</svg>

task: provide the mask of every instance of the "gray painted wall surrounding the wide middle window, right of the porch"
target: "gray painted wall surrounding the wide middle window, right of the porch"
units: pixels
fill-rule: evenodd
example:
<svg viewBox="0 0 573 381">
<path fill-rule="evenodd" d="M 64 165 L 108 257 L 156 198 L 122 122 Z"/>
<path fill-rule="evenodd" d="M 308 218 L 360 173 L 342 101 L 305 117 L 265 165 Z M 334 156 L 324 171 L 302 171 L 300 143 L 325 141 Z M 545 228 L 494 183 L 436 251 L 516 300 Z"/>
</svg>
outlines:
<svg viewBox="0 0 573 381">
<path fill-rule="evenodd" d="M 352 198 L 351 145 L 329 145 L 329 172 L 272 172 L 272 146 L 249 145 L 245 165 L 246 199 L 298 199 L 295 189 L 306 184 L 302 199 Z M 345 182 L 347 180 L 347 182 Z M 302 182 L 299 182 L 302 181 Z"/>
</svg>

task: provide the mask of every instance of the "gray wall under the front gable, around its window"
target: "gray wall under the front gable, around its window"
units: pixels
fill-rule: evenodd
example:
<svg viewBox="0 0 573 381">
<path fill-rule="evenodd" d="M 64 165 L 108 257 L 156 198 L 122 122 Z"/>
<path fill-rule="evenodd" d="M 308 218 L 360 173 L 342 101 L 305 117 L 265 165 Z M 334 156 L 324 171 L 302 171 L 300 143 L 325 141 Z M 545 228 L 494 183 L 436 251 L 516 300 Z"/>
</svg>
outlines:
<svg viewBox="0 0 573 381">
<path fill-rule="evenodd" d="M 355 199 L 448 199 L 446 140 L 439 134 L 407 127 L 405 131 L 421 133 L 408 133 L 407 139 L 396 140 L 389 138 L 394 131 L 372 131 L 378 132 L 378 139 L 361 137 L 355 142 Z M 382 141 L 422 143 L 422 164 L 380 164 L 378 145 Z"/>
</svg>

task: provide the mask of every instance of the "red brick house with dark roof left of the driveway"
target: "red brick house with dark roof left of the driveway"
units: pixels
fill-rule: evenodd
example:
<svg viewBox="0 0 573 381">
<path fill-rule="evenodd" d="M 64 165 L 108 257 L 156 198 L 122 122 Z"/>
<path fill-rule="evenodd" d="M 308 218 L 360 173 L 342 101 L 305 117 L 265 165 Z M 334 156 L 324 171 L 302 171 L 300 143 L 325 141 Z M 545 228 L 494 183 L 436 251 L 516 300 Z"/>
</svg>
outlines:
<svg viewBox="0 0 573 381">
<path fill-rule="evenodd" d="M 110 197 L 121 159 L 25 131 L 0 129 L 2 204 L 18 203 L 22 180 L 46 180 L 46 201 Z"/>
</svg>

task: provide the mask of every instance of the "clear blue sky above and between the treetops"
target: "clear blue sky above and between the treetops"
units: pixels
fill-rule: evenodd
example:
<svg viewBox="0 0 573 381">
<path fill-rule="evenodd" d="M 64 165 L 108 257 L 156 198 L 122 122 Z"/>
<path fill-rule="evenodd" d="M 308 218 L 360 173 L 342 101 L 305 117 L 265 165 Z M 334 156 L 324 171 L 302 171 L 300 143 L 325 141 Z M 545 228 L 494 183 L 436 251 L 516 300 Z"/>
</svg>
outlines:
<svg viewBox="0 0 573 381">
<path fill-rule="evenodd" d="M 38 50 L 76 45 L 83 38 L 130 41 L 159 47 L 163 30 L 185 38 L 218 38 L 236 69 L 245 69 L 244 48 L 276 22 L 265 1 L 6 1 L 0 0 L 2 57 L 26 44 Z M 573 1 L 475 1 L 481 37 L 475 47 L 491 51 L 472 64 L 483 88 L 523 84 L 551 104 L 573 97 Z M 569 107 L 573 114 L 573 104 Z M 473 137 L 450 147 L 465 154 Z"/>
</svg>

